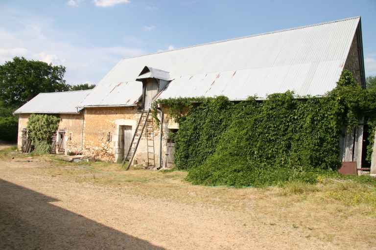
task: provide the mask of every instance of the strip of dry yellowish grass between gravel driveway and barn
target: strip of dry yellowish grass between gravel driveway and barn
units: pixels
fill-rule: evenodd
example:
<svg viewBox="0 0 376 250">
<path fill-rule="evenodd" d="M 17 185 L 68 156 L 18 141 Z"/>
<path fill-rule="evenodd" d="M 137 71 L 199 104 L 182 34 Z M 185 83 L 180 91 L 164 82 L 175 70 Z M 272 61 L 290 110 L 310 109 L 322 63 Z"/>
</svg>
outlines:
<svg viewBox="0 0 376 250">
<path fill-rule="evenodd" d="M 267 225 L 289 225 L 305 230 L 305 237 L 316 237 L 339 247 L 347 248 L 351 243 L 354 248 L 367 248 L 373 246 L 376 237 L 376 187 L 367 183 L 323 179 L 316 185 L 292 182 L 268 188 L 203 187 L 184 181 L 184 171 L 125 171 L 119 164 L 67 163 L 54 156 L 38 159 L 44 164 L 28 168 L 30 174 L 124 188 L 130 194 L 182 206 L 219 207 L 244 213 L 245 217 L 257 214 Z"/>
</svg>

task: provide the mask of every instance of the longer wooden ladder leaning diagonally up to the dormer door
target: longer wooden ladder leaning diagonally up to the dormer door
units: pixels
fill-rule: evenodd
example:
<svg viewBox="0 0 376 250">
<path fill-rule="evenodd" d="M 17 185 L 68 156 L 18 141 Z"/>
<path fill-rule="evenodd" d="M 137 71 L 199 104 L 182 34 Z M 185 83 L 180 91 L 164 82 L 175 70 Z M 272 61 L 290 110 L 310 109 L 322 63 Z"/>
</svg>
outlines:
<svg viewBox="0 0 376 250">
<path fill-rule="evenodd" d="M 142 110 L 139 122 L 137 123 L 137 126 L 136 126 L 135 134 L 132 137 L 132 141 L 131 141 L 131 144 L 128 148 L 127 154 L 125 155 L 125 157 L 123 159 L 123 165 L 125 164 L 126 160 L 129 161 L 126 170 L 128 170 L 132 165 L 133 157 L 135 156 L 137 147 L 140 144 L 142 132 L 145 129 L 145 126 L 147 124 L 147 120 L 149 119 L 149 115 L 150 115 L 150 109 L 149 110 Z"/>
</svg>

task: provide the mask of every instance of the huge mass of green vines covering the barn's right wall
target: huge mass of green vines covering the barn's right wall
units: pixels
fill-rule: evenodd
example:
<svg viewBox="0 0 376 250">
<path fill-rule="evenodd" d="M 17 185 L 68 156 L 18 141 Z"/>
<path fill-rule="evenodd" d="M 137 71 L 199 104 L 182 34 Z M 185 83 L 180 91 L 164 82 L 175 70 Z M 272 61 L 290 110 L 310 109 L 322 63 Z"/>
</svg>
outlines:
<svg viewBox="0 0 376 250">
<path fill-rule="evenodd" d="M 344 71 L 325 97 L 297 99 L 293 92 L 234 103 L 226 97 L 158 100 L 179 123 L 175 164 L 193 184 L 267 186 L 315 182 L 340 165 L 341 128 L 369 117 L 374 136 L 376 91 Z M 185 111 L 184 113 L 182 111 Z M 370 153 L 368 160 L 370 159 Z"/>
</svg>

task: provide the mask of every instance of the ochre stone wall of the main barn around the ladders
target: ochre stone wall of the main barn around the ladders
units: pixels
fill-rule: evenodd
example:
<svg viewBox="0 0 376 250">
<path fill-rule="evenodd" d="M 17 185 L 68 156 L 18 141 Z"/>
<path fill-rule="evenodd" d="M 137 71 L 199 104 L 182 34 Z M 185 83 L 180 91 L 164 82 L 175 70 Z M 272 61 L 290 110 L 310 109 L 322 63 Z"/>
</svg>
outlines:
<svg viewBox="0 0 376 250">
<path fill-rule="evenodd" d="M 141 116 L 136 107 L 92 107 L 85 109 L 84 154 L 102 161 L 121 161 L 119 128 L 132 126 L 132 136 Z M 159 129 L 154 124 L 155 160 L 158 166 Z M 147 162 L 146 137 L 143 133 L 134 162 L 144 165 Z M 152 157 L 152 154 L 149 155 Z"/>
</svg>

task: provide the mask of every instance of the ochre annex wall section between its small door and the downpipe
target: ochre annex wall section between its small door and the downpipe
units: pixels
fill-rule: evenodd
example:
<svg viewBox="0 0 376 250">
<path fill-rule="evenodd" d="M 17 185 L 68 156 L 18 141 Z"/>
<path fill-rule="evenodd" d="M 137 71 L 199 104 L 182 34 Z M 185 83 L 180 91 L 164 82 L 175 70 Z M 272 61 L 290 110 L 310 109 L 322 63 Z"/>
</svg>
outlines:
<svg viewBox="0 0 376 250">
<path fill-rule="evenodd" d="M 83 113 L 60 114 L 58 130 L 65 130 L 65 153 L 79 153 L 82 143 Z"/>
</svg>

